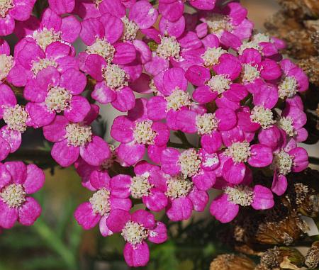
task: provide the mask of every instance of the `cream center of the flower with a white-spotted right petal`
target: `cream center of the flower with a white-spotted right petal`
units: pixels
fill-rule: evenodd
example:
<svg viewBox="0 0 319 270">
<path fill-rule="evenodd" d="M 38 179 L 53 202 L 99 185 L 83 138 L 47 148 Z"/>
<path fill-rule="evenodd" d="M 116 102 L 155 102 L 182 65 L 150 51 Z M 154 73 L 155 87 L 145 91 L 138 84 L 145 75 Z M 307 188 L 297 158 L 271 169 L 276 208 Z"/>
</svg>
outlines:
<svg viewBox="0 0 319 270">
<path fill-rule="evenodd" d="M 191 148 L 180 154 L 178 164 L 181 167 L 181 174 L 187 178 L 197 174 L 201 166 L 201 159 L 196 150 Z"/>
</svg>

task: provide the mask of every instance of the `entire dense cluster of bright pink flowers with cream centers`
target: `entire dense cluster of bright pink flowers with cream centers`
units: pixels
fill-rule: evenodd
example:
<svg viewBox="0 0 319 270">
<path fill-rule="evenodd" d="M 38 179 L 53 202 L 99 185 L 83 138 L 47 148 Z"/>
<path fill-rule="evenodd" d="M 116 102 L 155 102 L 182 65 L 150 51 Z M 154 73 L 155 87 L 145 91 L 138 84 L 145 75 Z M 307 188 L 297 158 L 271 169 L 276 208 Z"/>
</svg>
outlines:
<svg viewBox="0 0 319 270">
<path fill-rule="evenodd" d="M 0 35 L 18 37 L 14 52 L 0 40 L 0 160 L 28 128 L 42 129 L 57 164 L 74 164 L 92 191 L 77 222 L 121 234 L 129 266 L 147 264 L 147 242 L 167 240 L 152 212 L 187 220 L 216 189 L 209 210 L 228 223 L 242 207 L 272 208 L 286 175 L 308 167 L 298 147 L 308 136 L 308 78 L 283 59 L 284 42 L 253 31 L 239 3 L 49 0 L 40 19 L 34 4 L 0 1 Z M 115 145 L 91 129 L 108 103 L 121 112 Z M 255 183 L 255 170 L 272 173 L 272 186 Z M 0 164 L 1 227 L 33 224 L 40 206 L 29 194 L 43 182 L 35 165 Z M 145 209 L 133 212 L 133 201 Z"/>
</svg>

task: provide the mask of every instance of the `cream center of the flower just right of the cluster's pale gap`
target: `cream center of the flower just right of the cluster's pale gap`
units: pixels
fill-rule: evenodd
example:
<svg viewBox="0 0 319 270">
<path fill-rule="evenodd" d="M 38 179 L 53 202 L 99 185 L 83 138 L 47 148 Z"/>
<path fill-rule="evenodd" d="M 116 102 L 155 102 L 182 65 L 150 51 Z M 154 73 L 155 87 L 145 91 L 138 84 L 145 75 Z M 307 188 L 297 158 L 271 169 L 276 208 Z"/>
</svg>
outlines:
<svg viewBox="0 0 319 270">
<path fill-rule="evenodd" d="M 143 145 L 154 145 L 157 133 L 152 130 L 152 120 L 136 121 L 133 136 L 135 142 Z"/>
</svg>

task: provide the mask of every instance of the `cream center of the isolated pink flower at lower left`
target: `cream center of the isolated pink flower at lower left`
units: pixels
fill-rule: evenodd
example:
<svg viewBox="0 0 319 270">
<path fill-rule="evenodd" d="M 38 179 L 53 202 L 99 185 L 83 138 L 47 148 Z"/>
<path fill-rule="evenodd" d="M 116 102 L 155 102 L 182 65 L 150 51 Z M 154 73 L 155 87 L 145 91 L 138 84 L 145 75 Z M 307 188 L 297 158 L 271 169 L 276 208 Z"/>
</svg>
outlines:
<svg viewBox="0 0 319 270">
<path fill-rule="evenodd" d="M 18 208 L 26 201 L 26 192 L 21 184 L 11 184 L 3 189 L 0 197 L 9 208 Z"/>
</svg>

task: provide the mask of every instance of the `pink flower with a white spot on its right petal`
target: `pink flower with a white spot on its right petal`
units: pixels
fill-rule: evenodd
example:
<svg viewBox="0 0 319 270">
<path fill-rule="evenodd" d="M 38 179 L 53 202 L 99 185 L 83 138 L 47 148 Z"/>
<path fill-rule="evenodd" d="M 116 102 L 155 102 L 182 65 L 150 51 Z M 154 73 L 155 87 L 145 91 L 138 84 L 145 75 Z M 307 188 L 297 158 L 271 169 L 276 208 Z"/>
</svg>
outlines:
<svg viewBox="0 0 319 270">
<path fill-rule="evenodd" d="M 191 178 L 197 189 L 207 191 L 215 184 L 216 176 L 211 171 L 215 163 L 209 164 L 207 159 L 205 163 L 201 160 L 203 155 L 194 148 L 189 148 L 179 152 L 174 148 L 167 148 L 162 151 L 161 165 L 162 171 L 171 176 L 181 176 Z M 209 164 L 209 165 L 208 165 Z"/>
</svg>

